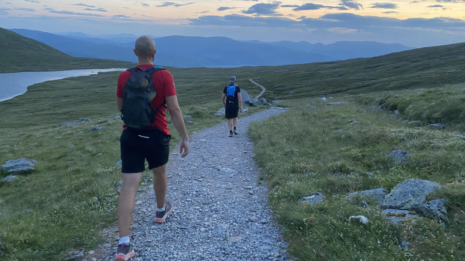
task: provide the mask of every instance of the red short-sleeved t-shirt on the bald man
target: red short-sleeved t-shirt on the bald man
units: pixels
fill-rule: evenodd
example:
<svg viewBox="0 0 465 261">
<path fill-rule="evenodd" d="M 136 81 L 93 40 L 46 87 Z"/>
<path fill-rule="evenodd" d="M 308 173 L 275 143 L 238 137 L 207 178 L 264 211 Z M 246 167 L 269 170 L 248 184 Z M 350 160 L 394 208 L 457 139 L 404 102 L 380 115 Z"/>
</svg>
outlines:
<svg viewBox="0 0 465 261">
<path fill-rule="evenodd" d="M 137 68 L 147 70 L 154 65 L 152 64 L 142 64 L 137 65 Z M 126 85 L 127 80 L 131 77 L 129 71 L 124 71 L 118 77 L 118 89 L 116 91 L 116 96 L 123 99 L 123 88 Z M 151 127 L 155 127 L 160 131 L 163 131 L 166 134 L 170 134 L 168 130 L 168 122 L 166 120 L 166 108 L 162 106 L 165 103 L 165 98 L 169 96 L 176 95 L 176 88 L 174 86 L 174 79 L 170 72 L 167 70 L 158 70 L 152 74 L 154 80 L 154 89 L 156 91 L 156 96 L 152 101 L 152 108 L 155 110 L 159 108 L 155 114 L 155 121 L 152 123 Z M 126 129 L 126 126 L 123 125 L 123 128 Z"/>
</svg>

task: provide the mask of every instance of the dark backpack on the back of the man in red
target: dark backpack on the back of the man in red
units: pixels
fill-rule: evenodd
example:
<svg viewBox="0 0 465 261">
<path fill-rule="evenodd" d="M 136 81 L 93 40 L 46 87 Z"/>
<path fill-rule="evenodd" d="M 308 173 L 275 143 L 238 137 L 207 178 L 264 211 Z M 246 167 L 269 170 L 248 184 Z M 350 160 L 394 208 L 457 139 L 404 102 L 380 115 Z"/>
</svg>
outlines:
<svg viewBox="0 0 465 261">
<path fill-rule="evenodd" d="M 124 125 L 134 129 L 147 129 L 155 121 L 157 109 L 152 109 L 152 100 L 156 96 L 152 74 L 165 70 L 154 66 L 147 70 L 141 68 L 127 69 L 131 77 L 123 88 L 123 109 L 121 110 Z"/>
</svg>

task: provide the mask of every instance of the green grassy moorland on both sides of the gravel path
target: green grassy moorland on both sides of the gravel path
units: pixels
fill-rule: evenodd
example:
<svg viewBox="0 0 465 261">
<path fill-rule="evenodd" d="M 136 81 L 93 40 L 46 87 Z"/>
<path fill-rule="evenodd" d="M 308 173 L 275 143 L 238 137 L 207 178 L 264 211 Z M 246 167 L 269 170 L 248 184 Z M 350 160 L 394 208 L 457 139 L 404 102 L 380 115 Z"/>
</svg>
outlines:
<svg viewBox="0 0 465 261">
<path fill-rule="evenodd" d="M 465 112 L 464 48 L 462 43 L 331 63 L 170 71 L 183 112 L 195 122 L 189 131 L 224 120 L 213 112 L 221 107 L 221 92 L 231 75 L 251 95 L 260 92 L 248 82 L 253 78 L 267 88 L 267 100 L 281 100 L 292 108 L 255 124 L 250 133 L 256 160 L 271 186 L 270 204 L 286 227 L 289 251 L 297 259 L 460 260 L 465 258 L 465 147 L 464 138 L 449 130 L 465 127 L 460 123 Z M 37 172 L 20 175 L 13 184 L 0 182 L 0 251 L 6 251 L 8 260 L 62 260 L 69 251 L 96 246 L 99 231 L 115 220 L 113 186 L 120 179 L 115 163 L 122 123 L 109 115 L 118 113 L 117 75 L 45 82 L 0 102 L 0 163 L 22 157 L 38 160 Z M 347 104 L 317 102 L 326 94 Z M 311 110 L 307 103 L 318 108 Z M 381 104 L 386 111 L 370 108 Z M 425 109 L 427 105 L 431 109 Z M 399 116 L 387 113 L 394 109 Z M 63 121 L 87 117 L 92 121 L 60 127 Z M 404 126 L 405 119 L 423 125 L 441 121 L 447 127 L 428 131 Z M 350 125 L 351 120 L 360 124 Z M 87 131 L 95 125 L 105 129 Z M 344 131 L 334 132 L 339 128 Z M 173 144 L 176 140 L 174 135 Z M 391 149 L 411 151 L 412 160 L 394 166 L 386 159 Z M 334 171 L 375 174 L 372 179 L 335 177 Z M 312 172 L 318 175 L 308 175 Z M 362 208 L 343 199 L 349 191 L 392 188 L 413 177 L 443 185 L 438 197 L 449 200 L 451 220 L 444 227 L 432 219 L 396 227 L 376 207 Z M 295 203 L 312 191 L 323 192 L 327 202 L 315 207 Z M 33 212 L 21 212 L 26 209 Z M 365 215 L 371 226 L 348 222 L 352 215 Z M 399 249 L 402 240 L 412 243 L 409 250 Z"/>
</svg>

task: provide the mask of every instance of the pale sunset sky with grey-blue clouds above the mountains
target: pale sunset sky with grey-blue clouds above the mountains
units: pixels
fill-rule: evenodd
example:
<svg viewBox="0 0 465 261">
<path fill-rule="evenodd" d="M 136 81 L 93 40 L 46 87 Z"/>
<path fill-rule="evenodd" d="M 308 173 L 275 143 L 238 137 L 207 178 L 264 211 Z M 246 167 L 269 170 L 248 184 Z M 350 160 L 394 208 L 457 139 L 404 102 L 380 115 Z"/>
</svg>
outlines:
<svg viewBox="0 0 465 261">
<path fill-rule="evenodd" d="M 465 42 L 465 0 L 0 0 L 0 27 L 423 47 Z"/>
</svg>

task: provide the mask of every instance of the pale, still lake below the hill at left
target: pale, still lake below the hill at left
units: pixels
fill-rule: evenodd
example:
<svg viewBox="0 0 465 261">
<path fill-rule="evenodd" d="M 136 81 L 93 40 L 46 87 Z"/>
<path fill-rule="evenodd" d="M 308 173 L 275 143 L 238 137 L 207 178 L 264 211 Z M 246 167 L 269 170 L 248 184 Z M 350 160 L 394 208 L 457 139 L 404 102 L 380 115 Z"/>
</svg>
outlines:
<svg viewBox="0 0 465 261">
<path fill-rule="evenodd" d="M 0 102 L 10 100 L 24 94 L 28 86 L 45 81 L 59 80 L 68 77 L 85 76 L 100 72 L 117 72 L 126 69 L 86 69 L 56 72 L 21 72 L 0 73 Z"/>
</svg>

